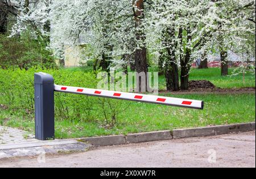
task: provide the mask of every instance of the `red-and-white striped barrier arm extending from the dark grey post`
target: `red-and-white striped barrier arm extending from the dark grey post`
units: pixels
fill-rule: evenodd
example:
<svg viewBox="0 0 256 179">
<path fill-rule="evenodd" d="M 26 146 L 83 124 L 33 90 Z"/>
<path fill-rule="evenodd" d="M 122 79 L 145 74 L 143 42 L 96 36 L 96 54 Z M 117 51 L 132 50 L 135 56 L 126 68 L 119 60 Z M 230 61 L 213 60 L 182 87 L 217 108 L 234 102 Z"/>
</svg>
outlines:
<svg viewBox="0 0 256 179">
<path fill-rule="evenodd" d="M 108 97 L 119 100 L 137 101 L 142 103 L 170 105 L 183 108 L 204 109 L 204 101 L 179 99 L 174 97 L 143 95 L 136 93 L 116 92 L 107 90 L 94 90 L 90 88 L 69 87 L 59 85 L 55 85 L 55 91 L 76 93 L 88 96 Z"/>
</svg>

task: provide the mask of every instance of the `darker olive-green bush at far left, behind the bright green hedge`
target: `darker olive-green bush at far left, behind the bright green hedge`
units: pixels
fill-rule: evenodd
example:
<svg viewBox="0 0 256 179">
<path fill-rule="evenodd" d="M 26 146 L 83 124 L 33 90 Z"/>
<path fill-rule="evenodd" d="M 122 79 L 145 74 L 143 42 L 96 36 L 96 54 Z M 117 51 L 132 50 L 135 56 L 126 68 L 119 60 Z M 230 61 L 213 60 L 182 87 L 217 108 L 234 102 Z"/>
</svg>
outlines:
<svg viewBox="0 0 256 179">
<path fill-rule="evenodd" d="M 36 40 L 29 33 L 11 38 L 0 35 L 0 68 L 19 67 L 27 70 L 34 66 L 56 67 L 53 55 L 46 50 L 43 40 Z"/>
</svg>

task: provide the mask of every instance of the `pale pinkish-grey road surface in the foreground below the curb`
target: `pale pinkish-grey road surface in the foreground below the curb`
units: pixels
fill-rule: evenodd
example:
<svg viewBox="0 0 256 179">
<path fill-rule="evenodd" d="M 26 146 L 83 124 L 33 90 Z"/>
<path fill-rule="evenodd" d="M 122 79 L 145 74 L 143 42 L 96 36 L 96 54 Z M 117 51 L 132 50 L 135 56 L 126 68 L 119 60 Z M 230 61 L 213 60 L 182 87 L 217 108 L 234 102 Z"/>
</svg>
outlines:
<svg viewBox="0 0 256 179">
<path fill-rule="evenodd" d="M 255 132 L 0 160 L 0 167 L 253 167 Z"/>
</svg>

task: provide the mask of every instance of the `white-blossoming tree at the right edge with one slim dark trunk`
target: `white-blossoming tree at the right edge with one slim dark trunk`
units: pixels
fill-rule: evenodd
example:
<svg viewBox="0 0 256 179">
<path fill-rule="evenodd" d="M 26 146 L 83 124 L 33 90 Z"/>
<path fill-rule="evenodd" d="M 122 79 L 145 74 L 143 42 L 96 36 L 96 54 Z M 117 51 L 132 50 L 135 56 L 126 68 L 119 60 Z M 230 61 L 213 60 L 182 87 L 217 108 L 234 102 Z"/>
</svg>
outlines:
<svg viewBox="0 0 256 179">
<path fill-rule="evenodd" d="M 255 54 L 255 1 L 218 0 L 211 17 L 214 48 L 221 54 L 221 75 L 228 75 L 229 50 L 241 59 L 245 53 Z"/>
</svg>

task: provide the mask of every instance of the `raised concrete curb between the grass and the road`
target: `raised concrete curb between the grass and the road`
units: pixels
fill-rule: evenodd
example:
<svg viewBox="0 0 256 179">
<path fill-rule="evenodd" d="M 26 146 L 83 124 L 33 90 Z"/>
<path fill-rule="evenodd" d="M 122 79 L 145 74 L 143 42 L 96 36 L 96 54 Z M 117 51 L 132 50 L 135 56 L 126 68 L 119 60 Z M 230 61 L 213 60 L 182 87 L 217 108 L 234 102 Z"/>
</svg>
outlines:
<svg viewBox="0 0 256 179">
<path fill-rule="evenodd" d="M 106 137 L 92 137 L 77 139 L 80 142 L 90 143 L 93 146 L 114 146 L 129 143 L 150 142 L 156 140 L 171 140 L 192 137 L 208 137 L 213 135 L 241 133 L 255 130 L 255 122 L 197 127 L 193 129 L 176 129 L 172 131 L 154 131 L 128 135 L 113 135 Z"/>
</svg>

